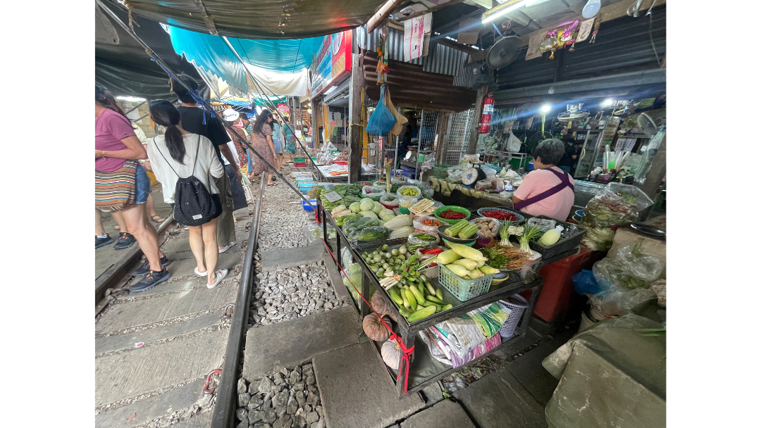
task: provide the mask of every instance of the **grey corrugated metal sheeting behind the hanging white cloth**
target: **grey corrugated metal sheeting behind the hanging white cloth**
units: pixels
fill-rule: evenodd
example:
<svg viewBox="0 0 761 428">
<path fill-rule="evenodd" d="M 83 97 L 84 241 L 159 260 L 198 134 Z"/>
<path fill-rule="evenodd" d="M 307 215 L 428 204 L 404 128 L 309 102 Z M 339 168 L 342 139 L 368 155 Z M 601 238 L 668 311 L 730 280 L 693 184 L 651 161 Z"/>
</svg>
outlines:
<svg viewBox="0 0 761 428">
<path fill-rule="evenodd" d="M 367 26 L 355 30 L 359 47 L 375 52 L 380 29 L 375 29 L 368 34 Z M 395 28 L 386 27 L 386 52 L 389 59 L 404 62 L 404 32 Z M 468 54 L 453 49 L 449 46 L 431 43 L 428 46 L 428 55 L 412 59 L 408 64 L 422 65 L 423 71 L 438 73 L 440 75 L 456 76 L 468 60 Z"/>
</svg>

